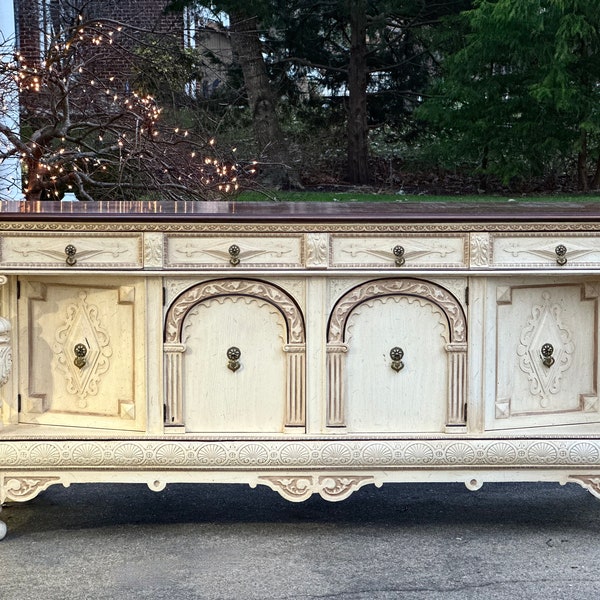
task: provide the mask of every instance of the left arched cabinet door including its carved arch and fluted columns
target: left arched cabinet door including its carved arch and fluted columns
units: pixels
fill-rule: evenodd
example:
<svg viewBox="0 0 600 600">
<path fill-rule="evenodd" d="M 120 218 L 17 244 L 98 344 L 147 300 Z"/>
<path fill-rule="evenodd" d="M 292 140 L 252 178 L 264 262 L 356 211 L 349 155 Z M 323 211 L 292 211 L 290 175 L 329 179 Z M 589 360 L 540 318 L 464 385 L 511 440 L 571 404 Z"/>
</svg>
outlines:
<svg viewBox="0 0 600 600">
<path fill-rule="evenodd" d="M 304 426 L 304 323 L 293 299 L 257 280 L 182 293 L 167 314 L 166 426 L 277 433 Z"/>
</svg>

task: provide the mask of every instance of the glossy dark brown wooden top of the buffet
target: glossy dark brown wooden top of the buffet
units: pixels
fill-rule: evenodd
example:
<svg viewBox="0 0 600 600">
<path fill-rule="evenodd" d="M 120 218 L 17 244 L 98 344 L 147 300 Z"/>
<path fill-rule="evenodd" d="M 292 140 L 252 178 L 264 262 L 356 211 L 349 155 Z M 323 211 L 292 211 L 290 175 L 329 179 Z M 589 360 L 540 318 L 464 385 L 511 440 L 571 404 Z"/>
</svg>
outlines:
<svg viewBox="0 0 600 600">
<path fill-rule="evenodd" d="M 9 202 L 0 221 L 469 223 L 599 222 L 600 201 Z"/>
</svg>

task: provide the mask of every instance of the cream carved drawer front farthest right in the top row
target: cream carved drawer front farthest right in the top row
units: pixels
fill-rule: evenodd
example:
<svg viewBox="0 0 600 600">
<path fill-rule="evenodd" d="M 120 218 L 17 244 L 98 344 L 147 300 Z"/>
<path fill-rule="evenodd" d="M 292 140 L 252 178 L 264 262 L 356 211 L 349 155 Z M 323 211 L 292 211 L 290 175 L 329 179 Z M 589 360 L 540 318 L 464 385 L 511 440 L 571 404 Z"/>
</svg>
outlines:
<svg viewBox="0 0 600 600">
<path fill-rule="evenodd" d="M 557 232 L 555 235 L 502 235 L 492 238 L 494 267 L 600 267 L 600 236 Z"/>
</svg>

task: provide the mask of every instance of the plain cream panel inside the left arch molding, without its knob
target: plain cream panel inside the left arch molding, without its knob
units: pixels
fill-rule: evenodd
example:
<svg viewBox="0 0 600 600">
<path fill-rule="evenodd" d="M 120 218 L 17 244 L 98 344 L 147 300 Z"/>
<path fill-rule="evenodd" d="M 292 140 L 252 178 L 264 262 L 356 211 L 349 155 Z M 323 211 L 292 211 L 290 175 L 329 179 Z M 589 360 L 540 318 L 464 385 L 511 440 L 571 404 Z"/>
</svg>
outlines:
<svg viewBox="0 0 600 600">
<path fill-rule="evenodd" d="M 192 309 L 182 332 L 186 431 L 282 431 L 285 332 L 280 311 L 257 298 L 217 298 Z M 241 353 L 235 371 L 227 357 L 231 347 Z"/>
</svg>

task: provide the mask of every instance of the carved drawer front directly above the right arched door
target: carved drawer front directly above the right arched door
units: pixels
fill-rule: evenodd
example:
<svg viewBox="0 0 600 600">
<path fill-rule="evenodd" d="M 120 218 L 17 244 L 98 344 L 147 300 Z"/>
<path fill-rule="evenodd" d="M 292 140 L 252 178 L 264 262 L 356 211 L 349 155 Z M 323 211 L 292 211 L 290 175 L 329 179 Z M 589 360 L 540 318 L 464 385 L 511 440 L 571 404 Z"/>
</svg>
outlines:
<svg viewBox="0 0 600 600">
<path fill-rule="evenodd" d="M 464 235 L 331 235 L 330 264 L 334 268 L 460 269 L 467 266 L 467 256 Z"/>
</svg>

